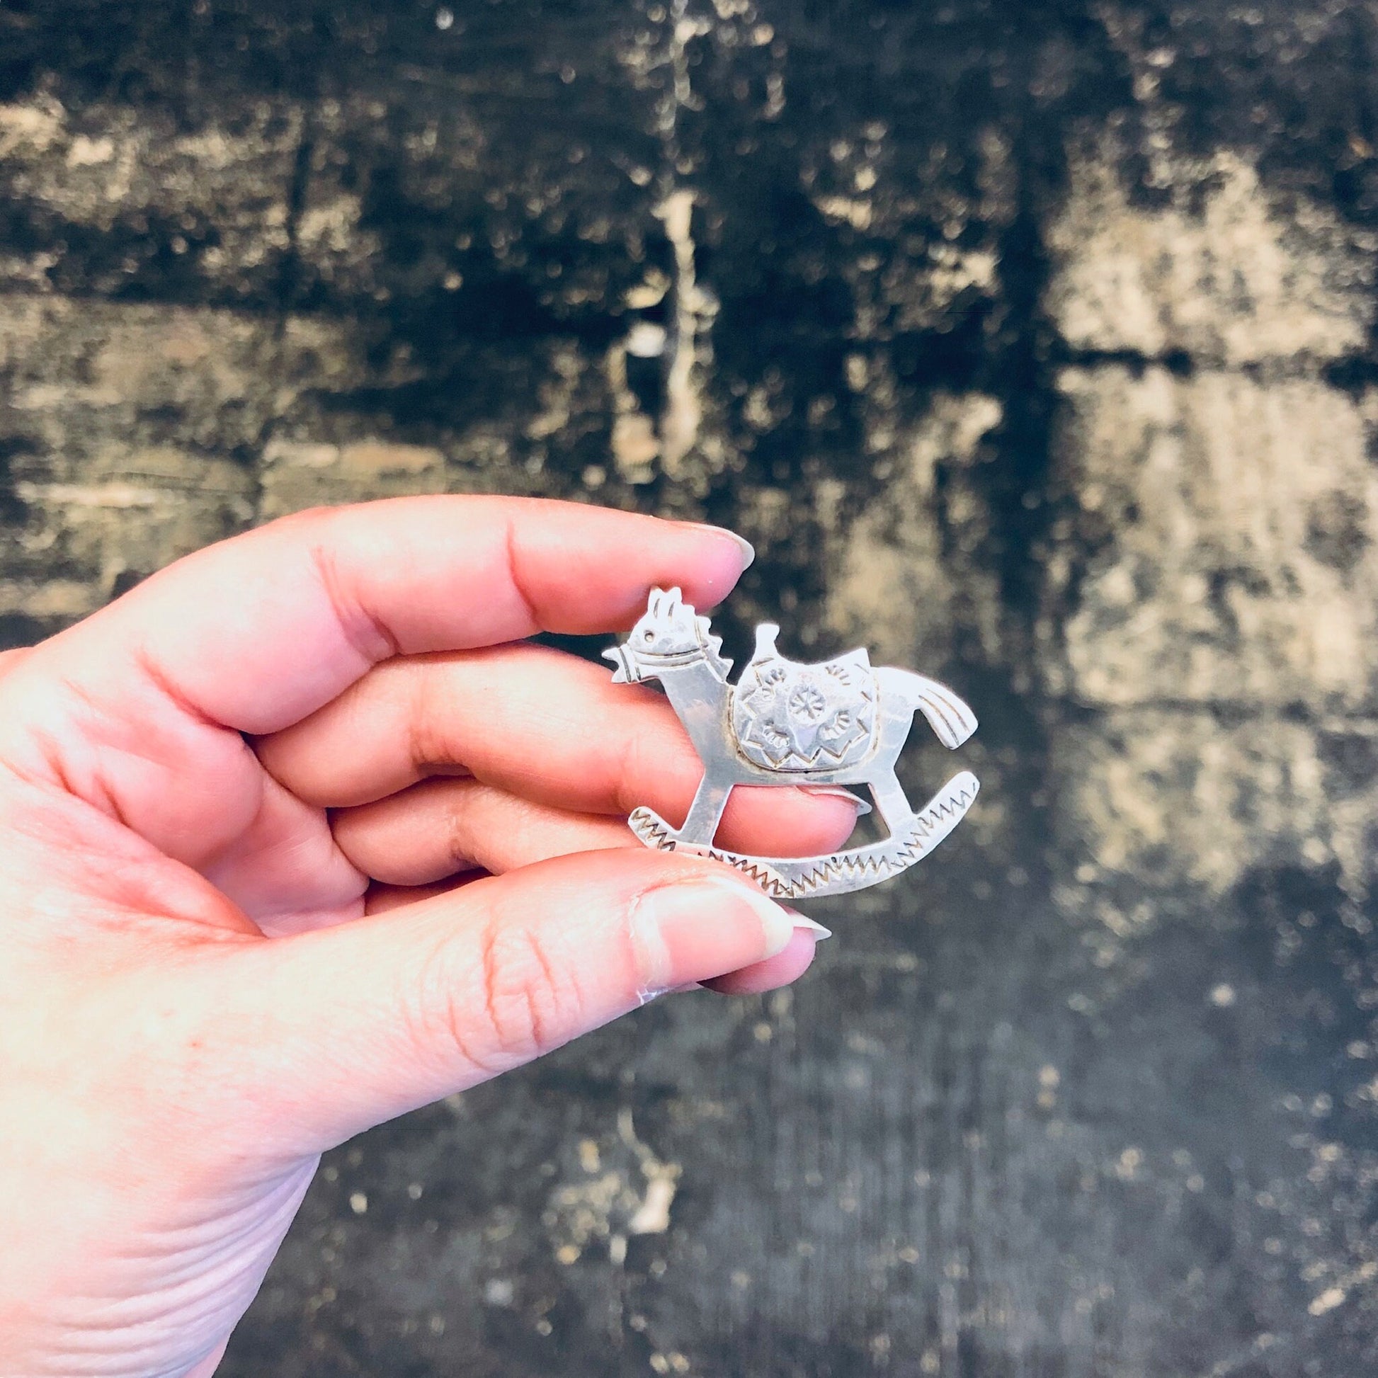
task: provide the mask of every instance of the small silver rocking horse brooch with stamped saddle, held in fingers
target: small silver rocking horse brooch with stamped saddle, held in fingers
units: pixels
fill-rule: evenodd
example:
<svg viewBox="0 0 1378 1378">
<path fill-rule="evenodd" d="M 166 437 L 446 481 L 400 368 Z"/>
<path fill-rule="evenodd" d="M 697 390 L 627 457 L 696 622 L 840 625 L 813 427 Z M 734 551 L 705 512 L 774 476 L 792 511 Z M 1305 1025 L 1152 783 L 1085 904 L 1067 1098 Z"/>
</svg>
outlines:
<svg viewBox="0 0 1378 1378">
<path fill-rule="evenodd" d="M 659 679 L 703 761 L 703 780 L 682 828 L 650 809 L 627 820 L 648 847 L 693 852 L 750 875 L 777 898 L 846 894 L 922 861 L 960 821 L 980 788 L 962 770 L 916 813 L 894 776 L 915 711 L 943 745 L 962 745 L 976 715 L 951 689 L 908 670 L 872 668 L 865 650 L 816 666 L 776 650 L 780 628 L 757 627 L 757 649 L 736 685 L 732 661 L 679 594 L 653 588 L 628 638 L 604 652 L 613 683 Z M 819 857 L 752 857 L 714 846 L 734 785 L 865 784 L 889 836 Z M 860 802 L 860 801 L 858 801 Z M 863 812 L 870 812 L 863 806 Z"/>
</svg>

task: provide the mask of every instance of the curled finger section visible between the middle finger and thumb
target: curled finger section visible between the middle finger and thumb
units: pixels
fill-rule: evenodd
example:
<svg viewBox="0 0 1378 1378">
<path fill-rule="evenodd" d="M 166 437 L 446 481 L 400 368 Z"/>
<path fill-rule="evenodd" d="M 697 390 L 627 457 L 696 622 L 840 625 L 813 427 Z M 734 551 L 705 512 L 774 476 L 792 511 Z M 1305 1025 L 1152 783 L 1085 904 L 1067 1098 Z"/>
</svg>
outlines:
<svg viewBox="0 0 1378 1378">
<path fill-rule="evenodd" d="M 641 845 L 620 819 L 532 803 L 478 780 L 426 780 L 378 803 L 342 809 L 332 827 L 336 846 L 360 871 L 407 886 Z"/>
</svg>

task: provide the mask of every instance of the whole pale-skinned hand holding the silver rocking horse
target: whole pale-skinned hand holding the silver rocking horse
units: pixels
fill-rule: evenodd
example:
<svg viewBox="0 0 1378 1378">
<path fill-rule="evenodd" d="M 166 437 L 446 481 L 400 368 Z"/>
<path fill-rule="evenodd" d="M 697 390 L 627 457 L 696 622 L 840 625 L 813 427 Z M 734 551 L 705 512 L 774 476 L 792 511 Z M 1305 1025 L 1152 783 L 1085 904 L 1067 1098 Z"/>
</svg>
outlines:
<svg viewBox="0 0 1378 1378">
<path fill-rule="evenodd" d="M 0 1374 L 212 1372 L 322 1149 L 649 992 L 808 966 L 788 911 L 621 821 L 697 781 L 666 701 L 520 644 L 741 565 L 712 528 L 402 499 L 0 657 Z M 723 838 L 853 820 L 739 791 Z"/>
</svg>

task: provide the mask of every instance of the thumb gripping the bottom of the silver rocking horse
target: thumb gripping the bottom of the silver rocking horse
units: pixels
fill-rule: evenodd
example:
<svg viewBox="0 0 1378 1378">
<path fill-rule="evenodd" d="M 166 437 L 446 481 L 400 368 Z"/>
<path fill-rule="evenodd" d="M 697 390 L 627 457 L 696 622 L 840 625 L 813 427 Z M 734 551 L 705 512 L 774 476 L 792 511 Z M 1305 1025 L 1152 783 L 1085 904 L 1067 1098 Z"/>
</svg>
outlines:
<svg viewBox="0 0 1378 1378">
<path fill-rule="evenodd" d="M 788 911 L 696 857 L 557 857 L 401 909 L 211 955 L 259 1148 L 320 1152 L 528 1062 L 664 989 L 783 951 Z M 240 1113 L 238 1111 L 236 1112 Z"/>
</svg>

